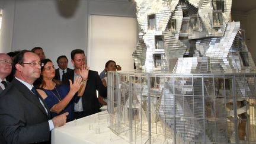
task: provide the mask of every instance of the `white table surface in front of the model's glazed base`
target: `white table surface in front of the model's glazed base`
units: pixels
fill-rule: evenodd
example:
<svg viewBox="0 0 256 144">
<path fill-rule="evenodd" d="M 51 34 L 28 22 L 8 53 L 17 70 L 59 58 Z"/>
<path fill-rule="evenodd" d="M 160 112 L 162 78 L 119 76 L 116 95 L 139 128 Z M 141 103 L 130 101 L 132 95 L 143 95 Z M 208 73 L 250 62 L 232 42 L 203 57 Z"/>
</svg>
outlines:
<svg viewBox="0 0 256 144">
<path fill-rule="evenodd" d="M 114 134 L 108 126 L 108 113 L 101 111 L 82 119 L 70 121 L 52 130 L 52 144 L 129 143 Z M 100 133 L 98 133 L 100 128 Z"/>
</svg>

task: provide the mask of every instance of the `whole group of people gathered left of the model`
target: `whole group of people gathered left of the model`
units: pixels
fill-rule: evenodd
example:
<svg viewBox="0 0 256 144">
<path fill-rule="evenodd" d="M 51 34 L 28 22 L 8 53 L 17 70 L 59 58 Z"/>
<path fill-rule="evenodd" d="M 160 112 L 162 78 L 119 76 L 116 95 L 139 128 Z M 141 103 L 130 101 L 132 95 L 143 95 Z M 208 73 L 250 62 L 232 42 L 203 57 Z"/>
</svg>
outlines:
<svg viewBox="0 0 256 144">
<path fill-rule="evenodd" d="M 84 50 L 53 62 L 41 47 L 0 53 L 0 143 L 50 143 L 50 132 L 66 122 L 100 112 L 106 105 L 107 72 L 120 71 L 109 60 L 98 75 Z M 98 91 L 98 95 L 97 92 Z"/>
</svg>

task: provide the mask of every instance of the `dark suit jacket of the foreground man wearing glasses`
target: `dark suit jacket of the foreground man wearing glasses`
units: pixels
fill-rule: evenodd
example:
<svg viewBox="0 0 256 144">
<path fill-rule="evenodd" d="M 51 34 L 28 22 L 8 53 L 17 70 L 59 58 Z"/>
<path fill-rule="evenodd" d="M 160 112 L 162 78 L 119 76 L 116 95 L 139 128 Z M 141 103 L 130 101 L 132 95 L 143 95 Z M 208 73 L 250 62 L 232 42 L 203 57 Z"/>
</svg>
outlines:
<svg viewBox="0 0 256 144">
<path fill-rule="evenodd" d="M 14 78 L 0 94 L 0 134 L 7 143 L 50 143 L 47 111 L 39 98 Z"/>
</svg>

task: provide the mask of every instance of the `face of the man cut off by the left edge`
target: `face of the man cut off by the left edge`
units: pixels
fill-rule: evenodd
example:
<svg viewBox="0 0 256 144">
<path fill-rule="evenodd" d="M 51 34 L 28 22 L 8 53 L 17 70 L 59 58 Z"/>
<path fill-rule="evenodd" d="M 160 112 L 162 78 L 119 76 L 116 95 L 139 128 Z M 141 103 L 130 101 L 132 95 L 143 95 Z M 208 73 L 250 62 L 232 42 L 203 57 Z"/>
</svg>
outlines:
<svg viewBox="0 0 256 144">
<path fill-rule="evenodd" d="M 12 59 L 6 54 L 0 54 L 0 75 L 4 77 L 11 73 L 12 69 Z"/>
</svg>

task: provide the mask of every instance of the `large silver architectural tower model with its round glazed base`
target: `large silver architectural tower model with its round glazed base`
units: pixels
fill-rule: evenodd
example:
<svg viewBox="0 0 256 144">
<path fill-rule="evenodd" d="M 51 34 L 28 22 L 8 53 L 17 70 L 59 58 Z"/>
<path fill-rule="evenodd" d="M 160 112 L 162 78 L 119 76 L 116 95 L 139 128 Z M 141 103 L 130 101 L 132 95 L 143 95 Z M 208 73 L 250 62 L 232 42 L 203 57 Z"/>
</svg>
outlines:
<svg viewBox="0 0 256 144">
<path fill-rule="evenodd" d="M 256 143 L 256 68 L 232 0 L 136 0 L 136 71 L 108 72 L 130 143 Z"/>
</svg>

